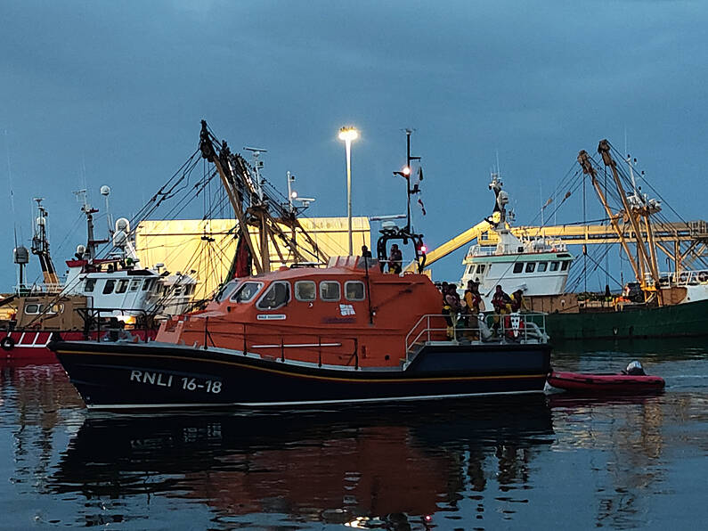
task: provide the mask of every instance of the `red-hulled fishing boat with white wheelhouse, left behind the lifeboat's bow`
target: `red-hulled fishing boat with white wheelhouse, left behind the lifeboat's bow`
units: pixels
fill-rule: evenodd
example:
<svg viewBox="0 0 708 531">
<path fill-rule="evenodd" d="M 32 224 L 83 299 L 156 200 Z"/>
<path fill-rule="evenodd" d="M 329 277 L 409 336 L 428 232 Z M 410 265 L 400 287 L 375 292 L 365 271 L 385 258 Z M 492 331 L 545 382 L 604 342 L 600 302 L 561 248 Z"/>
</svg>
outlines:
<svg viewBox="0 0 708 531">
<path fill-rule="evenodd" d="M 108 193 L 108 187 L 102 187 L 102 194 Z M 42 199 L 36 201 L 31 252 L 38 258 L 44 284 L 30 286 L 25 282 L 29 251 L 18 246 L 14 258 L 20 282 L 15 293 L 0 303 L 13 306 L 12 318 L 0 331 L 0 360 L 4 364 L 55 363 L 56 357 L 47 348 L 54 331 L 61 331 L 67 339 L 120 334 L 147 341 L 155 337 L 159 319 L 187 309 L 196 280 L 190 275 L 142 267 L 125 218 L 116 221 L 111 240 L 96 240 L 94 214 L 98 210 L 85 201 L 81 210 L 86 216 L 88 239 L 86 245 L 77 247 L 75 257 L 67 260 L 66 279 L 61 282 L 49 250 L 48 212 Z M 114 252 L 98 257 L 99 246 L 109 242 Z"/>
</svg>

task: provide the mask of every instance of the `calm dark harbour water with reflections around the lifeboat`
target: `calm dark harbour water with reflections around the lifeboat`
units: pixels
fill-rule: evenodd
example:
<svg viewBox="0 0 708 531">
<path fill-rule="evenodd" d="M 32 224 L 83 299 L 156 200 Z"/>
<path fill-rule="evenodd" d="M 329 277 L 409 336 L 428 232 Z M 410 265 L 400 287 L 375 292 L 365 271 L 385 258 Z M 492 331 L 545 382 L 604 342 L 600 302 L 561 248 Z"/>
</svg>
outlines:
<svg viewBox="0 0 708 531">
<path fill-rule="evenodd" d="M 0 371 L 0 528 L 702 528 L 708 345 L 558 351 L 640 359 L 658 396 L 88 415 L 61 367 Z"/>
</svg>

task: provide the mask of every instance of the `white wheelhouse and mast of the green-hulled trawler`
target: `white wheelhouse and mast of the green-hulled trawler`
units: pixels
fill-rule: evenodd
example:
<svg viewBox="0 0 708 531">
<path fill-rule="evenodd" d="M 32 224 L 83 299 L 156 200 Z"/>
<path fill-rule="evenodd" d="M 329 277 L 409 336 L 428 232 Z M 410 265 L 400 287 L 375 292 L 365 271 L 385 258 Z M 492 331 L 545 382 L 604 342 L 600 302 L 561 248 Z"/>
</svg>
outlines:
<svg viewBox="0 0 708 531">
<path fill-rule="evenodd" d="M 492 308 L 491 299 L 497 285 L 507 293 L 522 290 L 525 296 L 563 293 L 574 259 L 562 241 L 543 237 L 519 239 L 511 233 L 506 212 L 509 195 L 501 186 L 500 177 L 492 174 L 489 187 L 496 194 L 493 216 L 499 216 L 496 225 L 503 227 L 495 230 L 498 243 L 472 245 L 462 260 L 465 270 L 460 289 L 464 290 L 468 281 L 479 282 L 486 309 Z"/>
</svg>

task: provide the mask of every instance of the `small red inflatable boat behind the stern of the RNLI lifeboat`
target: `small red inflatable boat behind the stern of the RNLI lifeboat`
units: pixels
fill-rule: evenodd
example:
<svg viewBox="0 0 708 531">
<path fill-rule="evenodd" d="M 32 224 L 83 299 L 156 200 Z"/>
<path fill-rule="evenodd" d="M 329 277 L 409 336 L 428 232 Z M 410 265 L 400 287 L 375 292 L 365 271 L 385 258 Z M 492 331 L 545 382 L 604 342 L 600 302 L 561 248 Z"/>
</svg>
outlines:
<svg viewBox="0 0 708 531">
<path fill-rule="evenodd" d="M 551 372 L 549 385 L 574 393 L 641 393 L 663 389 L 660 376 Z"/>
</svg>

